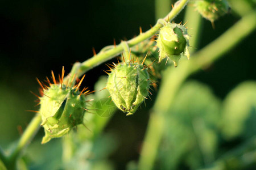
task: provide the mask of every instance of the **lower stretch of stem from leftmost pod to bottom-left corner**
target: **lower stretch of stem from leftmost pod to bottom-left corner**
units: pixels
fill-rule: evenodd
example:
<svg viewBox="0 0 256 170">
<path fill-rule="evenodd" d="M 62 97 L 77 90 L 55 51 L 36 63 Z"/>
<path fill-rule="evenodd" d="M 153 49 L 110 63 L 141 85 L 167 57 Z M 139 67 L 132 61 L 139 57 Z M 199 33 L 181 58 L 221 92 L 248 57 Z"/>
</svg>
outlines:
<svg viewBox="0 0 256 170">
<path fill-rule="evenodd" d="M 36 114 L 22 134 L 22 137 L 19 139 L 18 145 L 15 146 L 14 150 L 7 158 L 7 168 L 9 167 L 9 169 L 14 169 L 16 159 L 20 155 L 20 152 L 28 145 L 28 143 L 30 143 L 32 138 L 34 138 L 35 134 L 38 132 L 41 121 L 42 118 L 40 114 Z"/>
</svg>

